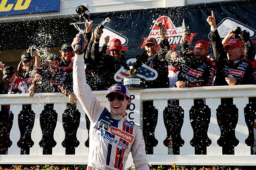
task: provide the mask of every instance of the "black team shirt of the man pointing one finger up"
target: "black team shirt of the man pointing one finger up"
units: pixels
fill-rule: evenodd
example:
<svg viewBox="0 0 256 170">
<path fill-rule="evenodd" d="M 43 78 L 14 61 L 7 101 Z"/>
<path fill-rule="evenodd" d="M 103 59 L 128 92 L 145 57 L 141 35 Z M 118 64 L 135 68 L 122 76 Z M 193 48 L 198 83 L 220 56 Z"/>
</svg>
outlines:
<svg viewBox="0 0 256 170">
<path fill-rule="evenodd" d="M 216 77 L 214 85 L 228 85 L 225 77 L 236 78 L 236 85 L 255 84 L 255 69 L 253 63 L 247 59 L 230 62 L 227 52 L 224 51 L 218 30 L 211 31 L 212 48 L 216 54 Z"/>
</svg>

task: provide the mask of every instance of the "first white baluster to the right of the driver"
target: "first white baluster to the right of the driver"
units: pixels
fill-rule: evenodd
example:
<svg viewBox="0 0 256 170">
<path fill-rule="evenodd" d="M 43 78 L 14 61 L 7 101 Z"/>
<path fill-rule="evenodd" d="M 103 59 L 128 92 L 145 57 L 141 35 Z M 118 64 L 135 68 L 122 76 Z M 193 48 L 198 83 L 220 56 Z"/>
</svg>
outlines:
<svg viewBox="0 0 256 170">
<path fill-rule="evenodd" d="M 155 138 L 158 140 L 158 144 L 154 147 L 154 154 L 168 155 L 168 147 L 163 144 L 163 140 L 166 139 L 166 127 L 163 122 L 163 111 L 167 106 L 168 100 L 154 100 L 154 107 L 158 110 L 157 126 L 155 128 Z"/>
</svg>

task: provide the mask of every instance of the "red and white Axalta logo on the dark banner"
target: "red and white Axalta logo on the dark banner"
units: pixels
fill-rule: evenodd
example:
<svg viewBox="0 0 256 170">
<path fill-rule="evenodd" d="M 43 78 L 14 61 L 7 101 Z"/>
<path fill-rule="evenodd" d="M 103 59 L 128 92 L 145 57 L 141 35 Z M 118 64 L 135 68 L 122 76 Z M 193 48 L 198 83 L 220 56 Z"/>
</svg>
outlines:
<svg viewBox="0 0 256 170">
<path fill-rule="evenodd" d="M 185 29 L 185 24 L 183 24 L 183 26 L 176 27 L 172 23 L 172 20 L 167 16 L 161 16 L 161 17 L 157 18 L 156 22 L 154 23 L 154 26 L 152 27 L 152 29 L 148 35 L 149 38 L 155 38 L 157 40 L 157 42 L 160 41 L 160 35 L 159 35 L 160 28 L 157 25 L 157 23 L 162 23 L 162 26 L 166 28 L 166 37 L 168 38 L 171 48 L 174 49 L 176 47 L 176 45 L 180 45 L 182 43 L 182 41 L 183 41 L 182 34 L 183 34 L 183 30 Z M 191 33 L 188 36 L 187 40 L 188 40 L 189 45 L 191 44 L 191 42 L 196 34 L 198 34 L 198 33 Z M 142 37 L 143 42 L 138 48 L 144 48 L 144 42 L 148 37 Z"/>
</svg>

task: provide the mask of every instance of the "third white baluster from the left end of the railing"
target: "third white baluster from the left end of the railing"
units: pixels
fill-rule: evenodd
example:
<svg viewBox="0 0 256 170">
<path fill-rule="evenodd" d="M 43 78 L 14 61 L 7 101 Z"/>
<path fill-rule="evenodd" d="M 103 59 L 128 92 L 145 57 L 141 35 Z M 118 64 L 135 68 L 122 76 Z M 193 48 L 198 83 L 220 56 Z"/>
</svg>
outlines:
<svg viewBox="0 0 256 170">
<path fill-rule="evenodd" d="M 58 113 L 57 125 L 54 130 L 54 140 L 57 142 L 56 146 L 52 148 L 52 155 L 65 155 L 65 148 L 62 142 L 65 139 L 65 131 L 62 124 L 62 113 L 67 108 L 67 103 L 54 104 L 54 110 Z"/>
</svg>

